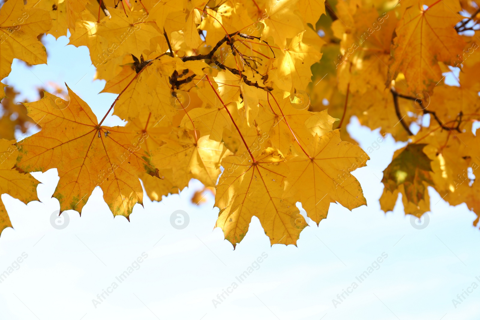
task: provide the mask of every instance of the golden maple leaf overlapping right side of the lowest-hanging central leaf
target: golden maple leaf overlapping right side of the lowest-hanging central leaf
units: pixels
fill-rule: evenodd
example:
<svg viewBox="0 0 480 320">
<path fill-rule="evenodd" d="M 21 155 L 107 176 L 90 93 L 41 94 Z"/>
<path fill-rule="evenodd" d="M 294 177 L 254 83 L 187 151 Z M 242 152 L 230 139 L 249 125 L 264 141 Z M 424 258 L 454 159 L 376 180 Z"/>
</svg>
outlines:
<svg viewBox="0 0 480 320">
<path fill-rule="evenodd" d="M 302 203 L 317 224 L 337 201 L 349 210 L 366 205 L 360 183 L 351 171 L 366 166 L 370 157 L 359 146 L 341 141 L 339 130 L 316 135 L 306 153 L 288 161 L 286 193 Z M 310 157 L 310 158 L 309 158 Z"/>
</svg>

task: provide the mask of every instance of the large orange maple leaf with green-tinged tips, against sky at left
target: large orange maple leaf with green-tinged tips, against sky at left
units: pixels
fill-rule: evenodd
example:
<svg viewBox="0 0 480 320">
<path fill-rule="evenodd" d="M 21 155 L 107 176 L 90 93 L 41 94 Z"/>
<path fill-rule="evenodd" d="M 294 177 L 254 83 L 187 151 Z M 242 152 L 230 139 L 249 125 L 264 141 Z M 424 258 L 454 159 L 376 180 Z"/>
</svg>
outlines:
<svg viewBox="0 0 480 320">
<path fill-rule="evenodd" d="M 148 135 L 100 126 L 90 107 L 70 88 L 68 93 L 70 102 L 45 93 L 40 101 L 25 103 L 42 130 L 18 143 L 17 166 L 26 172 L 57 168 L 60 180 L 53 196 L 61 211 L 81 212 L 99 186 L 113 214 L 128 217 L 143 199 L 138 175 L 155 172 L 141 147 Z"/>
</svg>

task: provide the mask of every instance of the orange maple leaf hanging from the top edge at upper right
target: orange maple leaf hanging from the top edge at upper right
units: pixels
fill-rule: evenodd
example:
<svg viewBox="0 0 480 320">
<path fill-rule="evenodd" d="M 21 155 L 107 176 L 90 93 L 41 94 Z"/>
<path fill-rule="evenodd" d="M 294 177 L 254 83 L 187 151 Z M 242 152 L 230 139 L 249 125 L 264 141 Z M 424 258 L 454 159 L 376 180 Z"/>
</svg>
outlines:
<svg viewBox="0 0 480 320">
<path fill-rule="evenodd" d="M 465 41 L 453 26 L 461 19 L 458 1 L 409 1 L 396 26 L 393 72 L 403 72 L 414 93 L 432 90 L 442 80 L 438 62 L 448 65 L 462 52 Z"/>
</svg>

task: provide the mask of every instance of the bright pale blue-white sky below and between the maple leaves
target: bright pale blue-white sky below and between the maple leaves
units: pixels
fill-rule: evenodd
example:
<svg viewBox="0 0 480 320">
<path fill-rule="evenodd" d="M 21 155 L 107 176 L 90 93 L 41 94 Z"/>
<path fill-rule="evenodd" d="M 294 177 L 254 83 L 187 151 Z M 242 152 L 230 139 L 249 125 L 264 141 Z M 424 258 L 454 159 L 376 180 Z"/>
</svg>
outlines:
<svg viewBox="0 0 480 320">
<path fill-rule="evenodd" d="M 93 81 L 88 49 L 67 46 L 66 37 L 56 41 L 48 35 L 44 43 L 47 65 L 28 68 L 15 60 L 4 82 L 29 100 L 38 99 L 36 88 L 53 92 L 51 83 L 66 82 L 101 119 L 115 96 L 98 94 L 105 82 Z M 121 121 L 106 122 L 114 123 Z M 365 150 L 380 137 L 355 119 L 348 130 Z M 222 231 L 213 229 L 213 197 L 201 206 L 190 203 L 201 189 L 194 180 L 180 196 L 162 202 L 145 195 L 130 223 L 113 218 L 97 188 L 82 217 L 67 211 L 68 225 L 56 229 L 50 217 L 59 210 L 51 198 L 57 171 L 34 173 L 42 182 L 40 202 L 25 205 L 1 196 L 15 230 L 7 228 L 0 237 L 0 280 L 9 273 L 0 283 L 0 319 L 478 320 L 476 215 L 465 204 L 449 206 L 434 190 L 423 229 L 404 215 L 401 201 L 393 213 L 380 210 L 382 171 L 399 146 L 388 137 L 367 167 L 354 172 L 368 206 L 350 212 L 331 204 L 319 227 L 303 230 L 298 247 L 270 247 L 253 218 L 233 250 Z M 190 218 L 183 229 L 170 224 L 176 210 Z M 128 277 L 120 278 L 125 271 Z M 362 280 L 365 271 L 371 273 Z M 248 276 L 240 278 L 242 273 Z"/>
</svg>

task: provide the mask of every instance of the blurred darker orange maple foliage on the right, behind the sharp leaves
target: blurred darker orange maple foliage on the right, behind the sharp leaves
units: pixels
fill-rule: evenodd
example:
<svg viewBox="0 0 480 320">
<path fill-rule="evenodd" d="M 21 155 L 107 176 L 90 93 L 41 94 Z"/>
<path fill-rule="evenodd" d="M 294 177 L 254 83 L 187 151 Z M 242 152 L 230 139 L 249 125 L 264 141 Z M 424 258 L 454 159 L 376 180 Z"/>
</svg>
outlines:
<svg viewBox="0 0 480 320">
<path fill-rule="evenodd" d="M 478 5 L 351 0 L 329 12 L 316 24 L 327 44 L 312 67 L 318 78 L 312 106 L 327 99 L 332 116 L 356 116 L 408 143 L 384 171 L 382 210 L 393 210 L 402 194 L 405 213 L 420 217 L 430 210 L 430 186 L 480 217 L 474 177 L 480 164 L 474 133 L 480 119 Z M 349 141 L 345 132 L 341 137 Z"/>
</svg>

